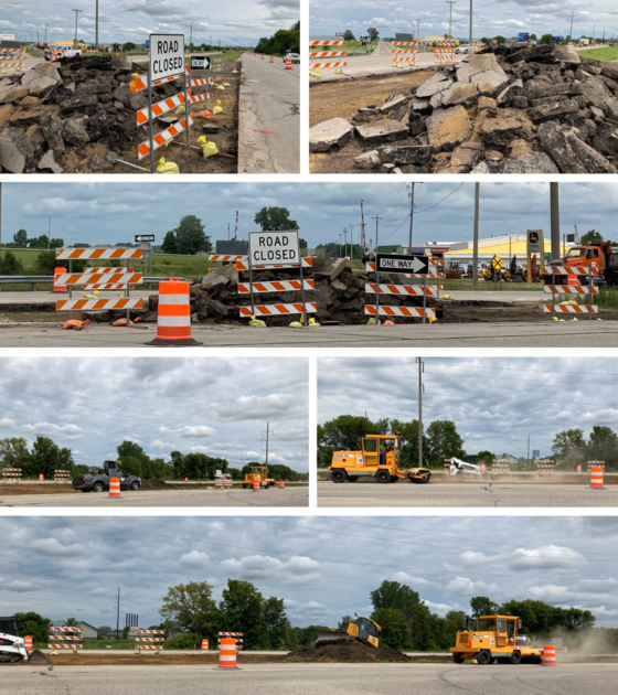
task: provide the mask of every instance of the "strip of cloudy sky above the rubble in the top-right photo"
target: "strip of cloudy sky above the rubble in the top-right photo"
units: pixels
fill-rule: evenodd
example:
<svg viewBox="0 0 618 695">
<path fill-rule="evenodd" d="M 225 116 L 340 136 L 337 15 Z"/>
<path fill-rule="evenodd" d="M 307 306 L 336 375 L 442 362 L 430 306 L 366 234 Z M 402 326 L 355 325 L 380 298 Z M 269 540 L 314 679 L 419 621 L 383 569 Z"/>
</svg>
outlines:
<svg viewBox="0 0 618 695">
<path fill-rule="evenodd" d="M 420 36 L 448 33 L 449 6 L 444 0 L 425 2 L 412 0 L 311 0 L 310 33 L 333 34 L 351 29 L 354 34 L 366 35 L 369 26 L 382 36 L 396 32 L 411 33 L 413 22 L 420 20 Z M 526 31 L 542 34 L 568 35 L 571 13 L 575 12 L 573 36 L 618 34 L 618 10 L 614 0 L 593 0 L 582 4 L 575 0 L 475 0 L 473 34 L 482 36 L 514 36 Z M 452 6 L 452 35 L 468 38 L 470 3 L 458 0 Z M 414 32 L 416 35 L 416 30 Z"/>
</svg>

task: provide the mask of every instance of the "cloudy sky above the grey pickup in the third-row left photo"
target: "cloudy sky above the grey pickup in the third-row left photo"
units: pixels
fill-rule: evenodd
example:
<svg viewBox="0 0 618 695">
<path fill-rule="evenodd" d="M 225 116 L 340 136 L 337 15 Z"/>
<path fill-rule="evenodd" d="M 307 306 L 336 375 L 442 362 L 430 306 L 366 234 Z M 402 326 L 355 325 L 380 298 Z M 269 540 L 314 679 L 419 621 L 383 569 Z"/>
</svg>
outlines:
<svg viewBox="0 0 618 695">
<path fill-rule="evenodd" d="M 301 359 L 0 359 L 0 439 L 50 437 L 100 466 L 125 439 L 171 451 L 308 470 L 308 365 Z M 1 563 L 0 563 L 1 564 Z"/>
</svg>

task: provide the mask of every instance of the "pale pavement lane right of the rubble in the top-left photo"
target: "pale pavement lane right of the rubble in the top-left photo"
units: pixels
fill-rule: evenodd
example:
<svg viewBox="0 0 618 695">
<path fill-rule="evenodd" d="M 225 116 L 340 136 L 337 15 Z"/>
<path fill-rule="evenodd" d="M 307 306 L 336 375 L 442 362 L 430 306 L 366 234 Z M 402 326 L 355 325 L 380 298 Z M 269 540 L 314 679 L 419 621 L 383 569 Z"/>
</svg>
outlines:
<svg viewBox="0 0 618 695">
<path fill-rule="evenodd" d="M 300 173 L 300 65 L 242 60 L 238 173 Z"/>
</svg>

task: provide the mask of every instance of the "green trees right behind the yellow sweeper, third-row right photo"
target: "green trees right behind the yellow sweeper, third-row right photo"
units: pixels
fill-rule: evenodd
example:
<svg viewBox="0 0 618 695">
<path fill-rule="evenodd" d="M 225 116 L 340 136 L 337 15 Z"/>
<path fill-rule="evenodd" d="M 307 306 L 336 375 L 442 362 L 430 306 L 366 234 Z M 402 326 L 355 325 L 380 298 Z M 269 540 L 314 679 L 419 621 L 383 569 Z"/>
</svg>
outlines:
<svg viewBox="0 0 618 695">
<path fill-rule="evenodd" d="M 451 457 L 462 458 L 464 439 L 457 432 L 452 420 L 434 420 L 427 429 L 423 427 L 423 456 L 418 461 L 418 420 L 398 420 L 382 418 L 375 423 L 363 416 L 340 415 L 323 425 L 318 425 L 318 468 L 331 464 L 332 452 L 362 449 L 365 435 L 394 435 L 399 432 L 403 439 L 402 467 L 427 466 L 441 468 L 444 460 Z"/>
</svg>

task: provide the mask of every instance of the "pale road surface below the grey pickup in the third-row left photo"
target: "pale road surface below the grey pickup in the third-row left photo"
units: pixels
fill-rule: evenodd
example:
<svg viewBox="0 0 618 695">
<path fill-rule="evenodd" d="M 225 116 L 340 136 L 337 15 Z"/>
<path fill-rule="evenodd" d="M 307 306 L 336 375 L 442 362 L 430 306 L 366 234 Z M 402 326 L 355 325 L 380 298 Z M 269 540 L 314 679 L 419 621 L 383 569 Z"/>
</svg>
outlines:
<svg viewBox="0 0 618 695">
<path fill-rule="evenodd" d="M 97 507 L 127 509 L 142 506 L 220 507 L 220 506 L 309 506 L 309 488 L 279 490 L 124 490 L 120 498 L 107 493 L 68 492 L 66 494 L 3 495 L 0 489 L 0 509 L 6 507 Z"/>
</svg>

